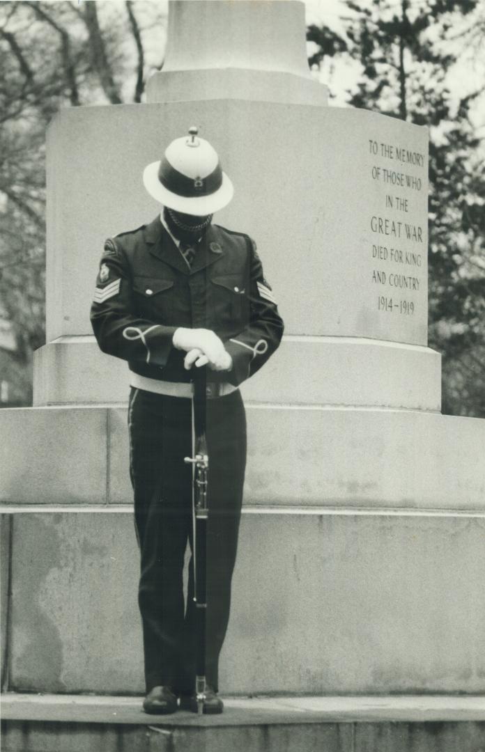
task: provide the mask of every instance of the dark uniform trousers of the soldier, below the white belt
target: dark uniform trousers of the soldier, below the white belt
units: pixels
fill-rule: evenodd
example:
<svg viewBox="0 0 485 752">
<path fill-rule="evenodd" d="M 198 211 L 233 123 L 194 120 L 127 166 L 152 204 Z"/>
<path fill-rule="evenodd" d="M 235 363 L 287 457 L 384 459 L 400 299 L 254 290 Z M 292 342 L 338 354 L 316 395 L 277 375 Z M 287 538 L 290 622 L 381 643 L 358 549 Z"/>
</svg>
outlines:
<svg viewBox="0 0 485 752">
<path fill-rule="evenodd" d="M 230 582 L 246 467 L 246 416 L 239 391 L 207 400 L 209 521 L 207 526 L 206 679 L 218 690 L 218 657 L 230 611 Z M 194 568 L 187 605 L 182 572 L 192 550 L 191 400 L 132 388 L 128 410 L 130 475 L 141 554 L 147 691 L 159 684 L 178 693 L 195 685 Z"/>
</svg>

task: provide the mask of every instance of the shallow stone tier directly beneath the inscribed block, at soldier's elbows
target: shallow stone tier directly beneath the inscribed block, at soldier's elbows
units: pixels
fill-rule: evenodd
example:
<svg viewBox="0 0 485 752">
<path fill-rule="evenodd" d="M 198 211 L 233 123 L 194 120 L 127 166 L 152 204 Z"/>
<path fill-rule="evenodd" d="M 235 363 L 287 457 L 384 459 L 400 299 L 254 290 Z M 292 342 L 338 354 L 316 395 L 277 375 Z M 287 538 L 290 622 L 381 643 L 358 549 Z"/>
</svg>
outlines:
<svg viewBox="0 0 485 752">
<path fill-rule="evenodd" d="M 60 337 L 35 352 L 34 404 L 127 402 L 129 379 L 127 363 L 92 336 Z M 439 411 L 441 356 L 412 344 L 289 335 L 242 393 L 249 402 Z"/>
</svg>

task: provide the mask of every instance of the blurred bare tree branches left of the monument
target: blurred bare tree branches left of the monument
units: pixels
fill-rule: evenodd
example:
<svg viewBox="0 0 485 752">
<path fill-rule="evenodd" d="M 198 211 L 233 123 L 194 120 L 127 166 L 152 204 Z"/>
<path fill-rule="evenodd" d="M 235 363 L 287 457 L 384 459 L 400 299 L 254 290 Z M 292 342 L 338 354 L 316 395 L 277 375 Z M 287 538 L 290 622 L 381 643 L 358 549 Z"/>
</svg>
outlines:
<svg viewBox="0 0 485 752">
<path fill-rule="evenodd" d="M 45 341 L 45 129 L 62 106 L 140 102 L 163 61 L 157 3 L 0 3 L 0 382 L 32 401 L 32 352 Z M 158 32 L 160 50 L 145 50 Z"/>
</svg>

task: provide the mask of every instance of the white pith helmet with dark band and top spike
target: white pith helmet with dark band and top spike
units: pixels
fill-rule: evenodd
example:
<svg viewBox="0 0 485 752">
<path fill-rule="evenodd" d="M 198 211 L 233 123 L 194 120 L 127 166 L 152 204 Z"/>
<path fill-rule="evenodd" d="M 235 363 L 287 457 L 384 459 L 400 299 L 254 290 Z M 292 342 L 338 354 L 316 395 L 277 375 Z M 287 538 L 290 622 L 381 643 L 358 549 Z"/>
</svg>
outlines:
<svg viewBox="0 0 485 752">
<path fill-rule="evenodd" d="M 206 217 L 224 208 L 234 189 L 217 152 L 198 132 L 193 126 L 188 136 L 175 138 L 160 162 L 145 167 L 143 183 L 150 196 L 169 209 Z"/>
</svg>

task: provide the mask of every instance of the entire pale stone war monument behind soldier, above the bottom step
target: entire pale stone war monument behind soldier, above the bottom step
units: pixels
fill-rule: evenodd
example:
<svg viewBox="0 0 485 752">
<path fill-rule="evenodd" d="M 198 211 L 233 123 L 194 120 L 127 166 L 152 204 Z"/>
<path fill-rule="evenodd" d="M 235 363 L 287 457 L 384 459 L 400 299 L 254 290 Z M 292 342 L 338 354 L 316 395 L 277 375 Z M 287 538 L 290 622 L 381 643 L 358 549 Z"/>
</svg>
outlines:
<svg viewBox="0 0 485 752">
<path fill-rule="evenodd" d="M 483 691 L 485 423 L 439 414 L 426 129 L 325 106 L 304 65 L 302 3 L 175 0 L 169 13 L 148 104 L 61 111 L 47 138 L 37 407 L 0 411 L 0 494 L 17 505 L 9 687 L 142 691 L 129 377 L 99 352 L 88 312 L 105 238 L 160 209 L 144 166 L 196 124 L 236 187 L 216 221 L 256 239 L 286 324 L 243 388 L 249 464 L 221 687 Z"/>
</svg>

